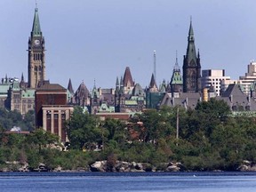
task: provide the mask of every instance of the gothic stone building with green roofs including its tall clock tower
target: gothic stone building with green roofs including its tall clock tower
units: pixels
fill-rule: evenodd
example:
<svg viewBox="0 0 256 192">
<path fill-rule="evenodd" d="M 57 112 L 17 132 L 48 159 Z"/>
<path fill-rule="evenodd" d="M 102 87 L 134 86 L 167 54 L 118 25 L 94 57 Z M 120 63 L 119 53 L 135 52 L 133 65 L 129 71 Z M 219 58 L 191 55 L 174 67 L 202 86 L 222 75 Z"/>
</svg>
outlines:
<svg viewBox="0 0 256 192">
<path fill-rule="evenodd" d="M 0 85 L 1 107 L 18 110 L 25 115 L 35 109 L 35 91 L 45 77 L 44 36 L 41 31 L 38 9 L 35 9 L 32 31 L 28 39 L 28 82 L 23 74 L 18 78 L 7 78 Z M 6 90 L 8 86 L 8 90 Z M 4 89 L 3 89 L 4 88 Z"/>
</svg>

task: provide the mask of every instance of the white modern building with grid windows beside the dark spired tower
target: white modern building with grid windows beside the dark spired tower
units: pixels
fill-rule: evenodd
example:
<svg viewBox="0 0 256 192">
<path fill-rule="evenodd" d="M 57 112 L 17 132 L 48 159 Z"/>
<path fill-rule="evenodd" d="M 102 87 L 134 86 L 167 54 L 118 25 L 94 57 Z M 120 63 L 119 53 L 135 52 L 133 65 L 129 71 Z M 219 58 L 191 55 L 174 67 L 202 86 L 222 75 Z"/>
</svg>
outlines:
<svg viewBox="0 0 256 192">
<path fill-rule="evenodd" d="M 202 88 L 213 86 L 216 94 L 220 96 L 221 81 L 230 80 L 230 76 L 225 76 L 224 69 L 202 70 L 201 84 Z"/>
</svg>

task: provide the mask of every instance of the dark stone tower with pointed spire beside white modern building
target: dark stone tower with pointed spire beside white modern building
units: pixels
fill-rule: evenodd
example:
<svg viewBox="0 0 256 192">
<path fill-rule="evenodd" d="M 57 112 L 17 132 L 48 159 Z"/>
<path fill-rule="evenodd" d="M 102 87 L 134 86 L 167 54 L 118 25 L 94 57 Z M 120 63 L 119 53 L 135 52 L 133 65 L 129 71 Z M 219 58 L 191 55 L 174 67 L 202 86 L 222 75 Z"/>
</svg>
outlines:
<svg viewBox="0 0 256 192">
<path fill-rule="evenodd" d="M 201 65 L 199 51 L 196 55 L 196 46 L 192 20 L 188 32 L 188 48 L 183 60 L 183 92 L 200 91 Z"/>
</svg>

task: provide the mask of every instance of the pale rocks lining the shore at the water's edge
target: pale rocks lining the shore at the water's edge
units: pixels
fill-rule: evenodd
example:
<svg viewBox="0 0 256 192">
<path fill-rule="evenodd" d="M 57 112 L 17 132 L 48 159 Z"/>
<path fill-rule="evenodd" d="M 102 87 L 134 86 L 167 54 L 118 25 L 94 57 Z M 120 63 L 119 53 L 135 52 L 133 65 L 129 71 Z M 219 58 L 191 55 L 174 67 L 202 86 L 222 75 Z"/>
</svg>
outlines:
<svg viewBox="0 0 256 192">
<path fill-rule="evenodd" d="M 76 168 L 76 170 L 64 170 L 58 166 L 54 169 L 46 164 L 39 164 L 37 168 L 29 167 L 28 163 L 5 162 L 5 166 L 0 167 L 0 172 L 190 172 L 181 163 L 163 163 L 160 167 L 155 167 L 148 163 L 123 162 L 116 161 L 115 164 L 109 164 L 108 161 L 96 161 L 93 164 Z M 194 170 L 195 171 L 195 170 Z M 200 170 L 202 172 L 202 170 Z M 215 172 L 222 172 L 216 170 Z M 224 170 L 223 170 L 224 171 Z M 244 160 L 243 163 L 234 170 L 236 172 L 256 172 L 256 164 Z"/>
</svg>

